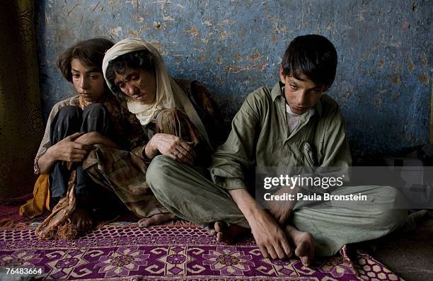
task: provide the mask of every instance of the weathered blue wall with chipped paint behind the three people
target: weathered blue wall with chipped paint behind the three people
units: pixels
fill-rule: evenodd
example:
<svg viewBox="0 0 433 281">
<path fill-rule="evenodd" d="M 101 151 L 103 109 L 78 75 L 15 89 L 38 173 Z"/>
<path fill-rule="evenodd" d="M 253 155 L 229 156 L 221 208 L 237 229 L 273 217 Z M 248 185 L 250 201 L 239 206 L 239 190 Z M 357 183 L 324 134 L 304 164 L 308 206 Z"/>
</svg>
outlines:
<svg viewBox="0 0 433 281">
<path fill-rule="evenodd" d="M 55 59 L 77 40 L 142 37 L 172 76 L 198 79 L 229 120 L 250 91 L 273 86 L 297 35 L 337 48 L 329 94 L 347 120 L 352 150 L 396 151 L 429 142 L 432 1 L 39 1 L 45 117 L 70 96 Z"/>
</svg>

